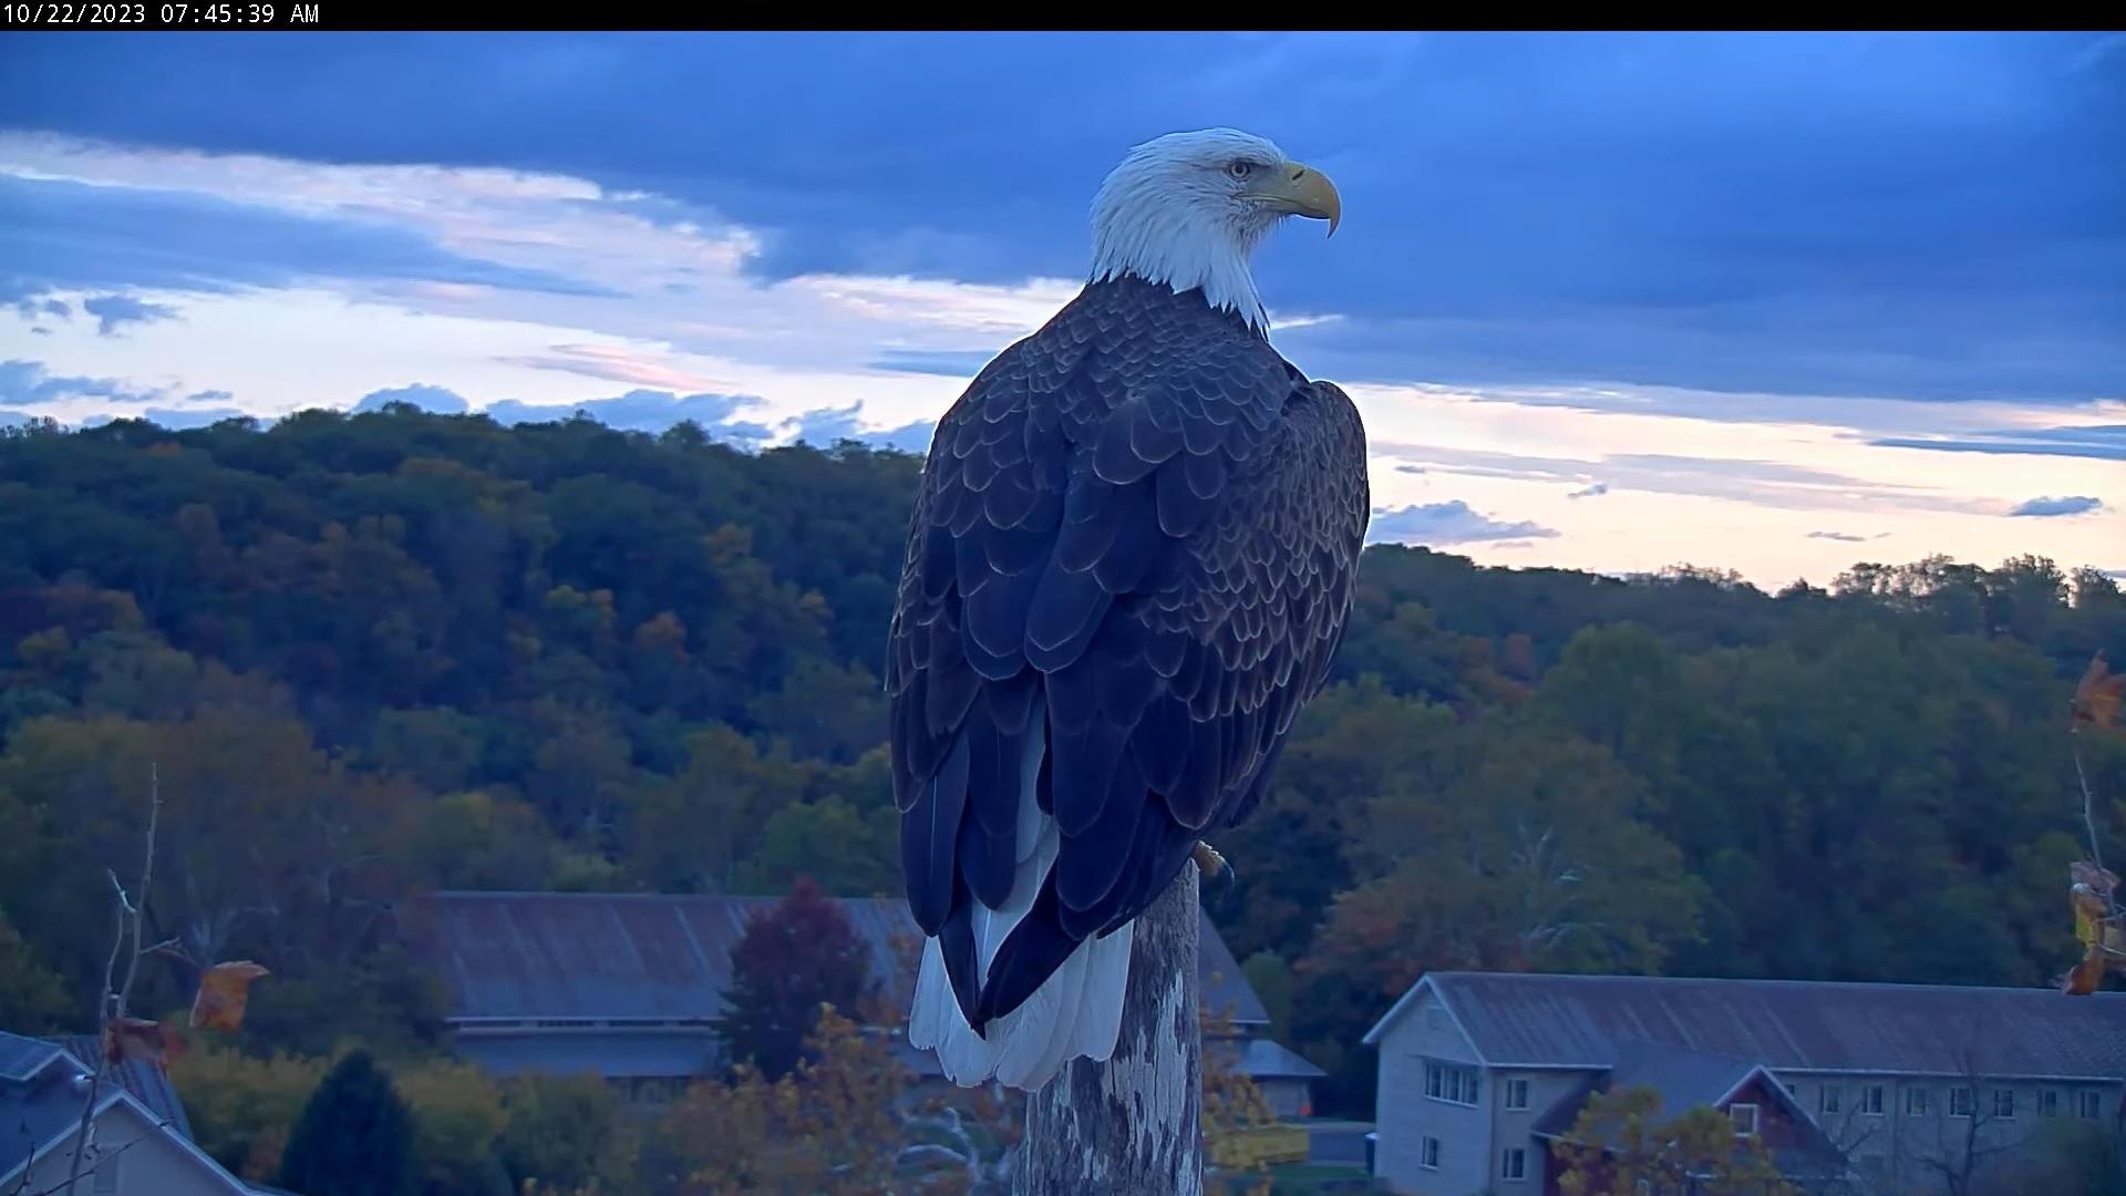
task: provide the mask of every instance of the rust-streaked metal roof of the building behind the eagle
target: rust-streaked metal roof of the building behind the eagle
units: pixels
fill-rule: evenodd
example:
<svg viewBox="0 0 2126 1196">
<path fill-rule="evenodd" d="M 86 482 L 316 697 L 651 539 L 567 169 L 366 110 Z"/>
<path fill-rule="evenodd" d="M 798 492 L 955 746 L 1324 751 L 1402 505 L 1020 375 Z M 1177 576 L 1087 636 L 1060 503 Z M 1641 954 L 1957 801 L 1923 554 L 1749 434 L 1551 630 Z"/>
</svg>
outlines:
<svg viewBox="0 0 2126 1196">
<path fill-rule="evenodd" d="M 438 892 L 406 921 L 444 981 L 449 1017 L 702 1021 L 723 1011 L 731 947 L 770 896 Z M 923 932 L 906 900 L 833 898 L 872 951 L 872 977 L 906 1009 Z M 1203 998 L 1235 1024 L 1269 1015 L 1205 915 Z"/>
</svg>

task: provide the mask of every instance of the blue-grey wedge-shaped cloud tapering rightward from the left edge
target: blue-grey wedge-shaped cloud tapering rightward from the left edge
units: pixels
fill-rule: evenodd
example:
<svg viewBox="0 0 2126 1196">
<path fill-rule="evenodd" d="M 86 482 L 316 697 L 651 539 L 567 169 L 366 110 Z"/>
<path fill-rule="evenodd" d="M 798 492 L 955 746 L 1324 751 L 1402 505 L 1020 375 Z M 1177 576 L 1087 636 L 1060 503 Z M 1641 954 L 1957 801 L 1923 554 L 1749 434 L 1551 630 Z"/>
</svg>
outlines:
<svg viewBox="0 0 2126 1196">
<path fill-rule="evenodd" d="M 21 289 L 227 292 L 310 279 L 476 283 L 570 296 L 612 292 L 480 262 L 381 221 L 327 219 L 200 192 L 0 172 L 0 270 Z M 123 319 L 123 317 L 121 317 Z"/>
</svg>

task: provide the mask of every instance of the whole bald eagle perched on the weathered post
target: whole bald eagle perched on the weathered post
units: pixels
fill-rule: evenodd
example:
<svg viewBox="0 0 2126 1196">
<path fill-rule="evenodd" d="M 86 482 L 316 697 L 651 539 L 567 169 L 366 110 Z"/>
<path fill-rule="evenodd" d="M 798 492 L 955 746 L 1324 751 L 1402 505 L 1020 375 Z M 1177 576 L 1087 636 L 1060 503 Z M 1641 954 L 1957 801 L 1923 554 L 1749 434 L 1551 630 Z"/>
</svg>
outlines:
<svg viewBox="0 0 2126 1196">
<path fill-rule="evenodd" d="M 1365 430 L 1248 266 L 1293 215 L 1333 234 L 1342 200 L 1265 138 L 1137 145 L 1084 289 L 938 423 L 887 692 L 908 1041 L 955 1083 L 1114 1053 L 1133 919 L 1261 802 L 1342 643 Z"/>
</svg>

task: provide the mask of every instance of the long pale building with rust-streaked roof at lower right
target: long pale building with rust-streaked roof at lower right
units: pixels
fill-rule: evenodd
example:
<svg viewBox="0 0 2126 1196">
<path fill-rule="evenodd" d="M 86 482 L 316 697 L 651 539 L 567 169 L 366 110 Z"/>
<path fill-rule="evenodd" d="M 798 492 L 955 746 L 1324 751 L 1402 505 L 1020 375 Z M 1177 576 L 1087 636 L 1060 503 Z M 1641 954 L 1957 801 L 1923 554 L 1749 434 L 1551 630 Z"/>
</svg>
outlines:
<svg viewBox="0 0 2126 1196">
<path fill-rule="evenodd" d="M 1754 1128 L 1803 1187 L 1928 1192 L 2115 1132 L 2126 994 L 1429 973 L 1365 1045 L 1397 1192 L 1550 1196 L 1550 1145 L 1618 1087 Z"/>
</svg>

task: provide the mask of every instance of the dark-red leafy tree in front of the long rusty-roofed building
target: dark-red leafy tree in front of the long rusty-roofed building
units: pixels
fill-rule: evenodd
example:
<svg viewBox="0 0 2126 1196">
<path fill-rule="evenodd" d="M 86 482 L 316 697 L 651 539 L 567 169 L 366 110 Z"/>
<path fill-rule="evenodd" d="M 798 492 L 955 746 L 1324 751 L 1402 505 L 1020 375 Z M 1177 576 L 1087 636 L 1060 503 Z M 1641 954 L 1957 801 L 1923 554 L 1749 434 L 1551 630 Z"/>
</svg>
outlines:
<svg viewBox="0 0 2126 1196">
<path fill-rule="evenodd" d="M 729 1009 L 716 1032 L 733 1064 L 770 1081 L 797 1066 L 823 1004 L 863 1017 L 874 985 L 870 951 L 810 877 L 746 921 L 731 949 Z"/>
</svg>

